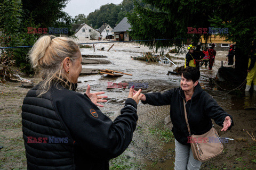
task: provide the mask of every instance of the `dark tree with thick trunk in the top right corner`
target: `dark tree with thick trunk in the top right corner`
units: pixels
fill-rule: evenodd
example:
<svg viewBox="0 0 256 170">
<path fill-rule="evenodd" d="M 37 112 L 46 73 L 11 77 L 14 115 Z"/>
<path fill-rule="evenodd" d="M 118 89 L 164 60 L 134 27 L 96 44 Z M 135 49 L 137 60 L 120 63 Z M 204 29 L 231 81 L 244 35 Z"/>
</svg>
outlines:
<svg viewBox="0 0 256 170">
<path fill-rule="evenodd" d="M 236 42 L 235 69 L 246 74 L 250 47 L 256 42 L 256 6 L 250 1 L 216 1 L 210 22 L 213 27 L 228 28 L 228 34 L 221 36 Z"/>
</svg>

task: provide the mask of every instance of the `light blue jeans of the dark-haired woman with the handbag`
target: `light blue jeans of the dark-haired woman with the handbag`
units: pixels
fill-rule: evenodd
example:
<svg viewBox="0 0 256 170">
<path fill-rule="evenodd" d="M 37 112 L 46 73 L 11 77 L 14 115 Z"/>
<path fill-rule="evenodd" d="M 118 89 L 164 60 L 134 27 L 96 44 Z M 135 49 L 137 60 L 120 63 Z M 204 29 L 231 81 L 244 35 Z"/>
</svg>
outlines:
<svg viewBox="0 0 256 170">
<path fill-rule="evenodd" d="M 182 145 L 175 139 L 175 170 L 200 169 L 202 162 L 194 159 L 190 146 Z"/>
</svg>

